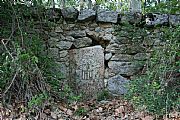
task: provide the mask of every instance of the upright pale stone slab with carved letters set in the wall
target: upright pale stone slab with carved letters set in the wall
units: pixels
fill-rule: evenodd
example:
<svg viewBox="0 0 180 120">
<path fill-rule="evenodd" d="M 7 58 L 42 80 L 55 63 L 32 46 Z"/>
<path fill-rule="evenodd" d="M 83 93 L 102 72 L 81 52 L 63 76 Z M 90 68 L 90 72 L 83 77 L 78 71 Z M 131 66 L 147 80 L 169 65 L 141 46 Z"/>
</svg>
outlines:
<svg viewBox="0 0 180 120">
<path fill-rule="evenodd" d="M 84 99 L 96 98 L 104 88 L 104 49 L 101 46 L 69 51 L 70 83 Z"/>
</svg>

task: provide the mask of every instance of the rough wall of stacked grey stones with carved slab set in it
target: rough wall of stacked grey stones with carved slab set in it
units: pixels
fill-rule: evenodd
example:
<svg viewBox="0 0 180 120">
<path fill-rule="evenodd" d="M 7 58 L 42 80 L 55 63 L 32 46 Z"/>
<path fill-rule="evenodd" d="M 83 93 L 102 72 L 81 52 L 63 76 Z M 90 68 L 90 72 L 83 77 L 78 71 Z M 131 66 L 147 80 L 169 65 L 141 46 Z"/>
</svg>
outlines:
<svg viewBox="0 0 180 120">
<path fill-rule="evenodd" d="M 60 18 L 49 33 L 49 54 L 63 80 L 87 99 L 104 88 L 125 94 L 125 84 L 143 72 L 153 47 L 164 44 L 156 26 L 180 24 L 180 15 L 74 8 L 61 10 Z"/>
</svg>

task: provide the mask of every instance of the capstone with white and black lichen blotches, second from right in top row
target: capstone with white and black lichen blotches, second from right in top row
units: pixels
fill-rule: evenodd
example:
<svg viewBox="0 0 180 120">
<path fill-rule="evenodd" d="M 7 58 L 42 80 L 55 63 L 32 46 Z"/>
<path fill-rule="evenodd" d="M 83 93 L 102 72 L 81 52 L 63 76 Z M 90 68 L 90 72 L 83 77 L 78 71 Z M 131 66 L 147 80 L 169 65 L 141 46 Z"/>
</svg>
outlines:
<svg viewBox="0 0 180 120">
<path fill-rule="evenodd" d="M 147 26 L 154 25 L 164 25 L 168 23 L 168 15 L 167 14 L 152 14 L 153 18 L 146 18 Z"/>
</svg>

